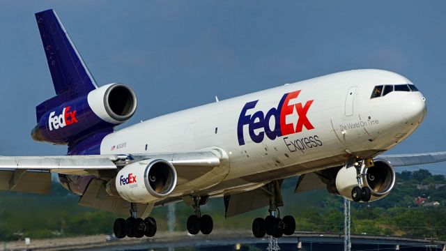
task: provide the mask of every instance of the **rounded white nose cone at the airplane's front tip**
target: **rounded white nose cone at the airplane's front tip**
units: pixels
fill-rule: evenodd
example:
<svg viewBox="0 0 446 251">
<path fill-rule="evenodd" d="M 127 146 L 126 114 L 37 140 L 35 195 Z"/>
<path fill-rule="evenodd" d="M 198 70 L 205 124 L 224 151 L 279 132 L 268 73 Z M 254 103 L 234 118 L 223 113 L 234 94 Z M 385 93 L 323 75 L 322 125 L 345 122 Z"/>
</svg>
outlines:
<svg viewBox="0 0 446 251">
<path fill-rule="evenodd" d="M 399 103 L 405 123 L 420 124 L 426 116 L 426 98 L 420 92 L 411 92 L 401 98 Z"/>
</svg>

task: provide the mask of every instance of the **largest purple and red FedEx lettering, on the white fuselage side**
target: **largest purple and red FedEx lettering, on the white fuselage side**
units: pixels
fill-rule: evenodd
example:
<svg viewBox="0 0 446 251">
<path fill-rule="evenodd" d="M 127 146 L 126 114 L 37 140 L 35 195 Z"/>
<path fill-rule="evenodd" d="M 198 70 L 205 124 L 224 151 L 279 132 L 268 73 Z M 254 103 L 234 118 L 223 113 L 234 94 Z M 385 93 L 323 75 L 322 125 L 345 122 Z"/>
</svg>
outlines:
<svg viewBox="0 0 446 251">
<path fill-rule="evenodd" d="M 269 139 L 274 140 L 277 137 L 302 132 L 303 128 L 307 128 L 307 130 L 314 129 L 314 126 L 307 118 L 308 109 L 312 106 L 314 100 L 308 100 L 302 105 L 302 102 L 295 101 L 299 93 L 300 90 L 285 93 L 277 108 L 271 108 L 266 114 L 262 111 L 257 111 L 252 115 L 247 115 L 250 109 L 256 107 L 259 100 L 247 102 L 238 117 L 238 144 L 240 146 L 245 144 L 243 126 L 248 127 L 249 137 L 256 143 L 262 142 L 265 135 Z M 270 123 L 272 118 L 274 118 L 274 123 Z"/>
</svg>

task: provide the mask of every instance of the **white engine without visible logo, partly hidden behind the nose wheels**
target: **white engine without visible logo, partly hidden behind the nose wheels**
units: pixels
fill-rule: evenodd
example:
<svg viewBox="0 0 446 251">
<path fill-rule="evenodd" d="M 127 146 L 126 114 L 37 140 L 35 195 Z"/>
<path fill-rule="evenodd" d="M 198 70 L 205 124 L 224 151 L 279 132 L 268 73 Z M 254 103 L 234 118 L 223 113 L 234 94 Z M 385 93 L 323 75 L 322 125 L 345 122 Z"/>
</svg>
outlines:
<svg viewBox="0 0 446 251">
<path fill-rule="evenodd" d="M 395 172 L 389 162 L 385 160 L 374 160 L 374 167 L 362 169 L 362 184 L 371 190 L 370 201 L 375 201 L 387 196 L 395 184 Z M 337 172 L 335 183 L 328 186 L 332 192 L 352 200 L 351 191 L 357 186 L 355 167 L 342 167 Z"/>
</svg>

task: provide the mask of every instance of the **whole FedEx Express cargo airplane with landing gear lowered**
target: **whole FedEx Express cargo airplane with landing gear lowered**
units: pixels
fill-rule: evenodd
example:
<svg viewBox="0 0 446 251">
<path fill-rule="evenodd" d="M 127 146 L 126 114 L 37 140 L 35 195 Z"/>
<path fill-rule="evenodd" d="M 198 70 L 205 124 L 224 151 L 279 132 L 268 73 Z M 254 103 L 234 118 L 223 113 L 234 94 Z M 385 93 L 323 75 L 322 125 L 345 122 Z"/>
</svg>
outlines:
<svg viewBox="0 0 446 251">
<path fill-rule="evenodd" d="M 56 96 L 36 106 L 38 142 L 68 146 L 62 156 L 1 156 L 0 189 L 45 194 L 52 173 L 79 205 L 118 218 L 117 238 L 155 236 L 155 206 L 183 201 L 187 231 L 210 234 L 202 214 L 223 197 L 225 216 L 268 206 L 252 232 L 295 231 L 281 217 L 284 178 L 295 192 L 326 188 L 356 202 L 381 199 L 394 167 L 446 160 L 446 152 L 380 155 L 417 129 L 426 99 L 409 79 L 387 70 L 349 70 L 216 100 L 115 130 L 137 109 L 128 85 L 98 86 L 54 10 L 36 13 Z"/>
</svg>

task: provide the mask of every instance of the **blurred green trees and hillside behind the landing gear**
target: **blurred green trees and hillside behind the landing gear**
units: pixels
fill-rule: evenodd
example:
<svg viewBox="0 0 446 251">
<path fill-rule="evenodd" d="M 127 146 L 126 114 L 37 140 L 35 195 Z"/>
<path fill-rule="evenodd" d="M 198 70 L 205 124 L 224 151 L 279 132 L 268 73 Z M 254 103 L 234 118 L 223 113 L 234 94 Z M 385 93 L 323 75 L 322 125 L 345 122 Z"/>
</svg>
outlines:
<svg viewBox="0 0 446 251">
<path fill-rule="evenodd" d="M 282 194 L 285 206 L 281 215 L 293 215 L 298 231 L 321 231 L 341 234 L 344 229 L 343 199 L 325 190 L 293 193 L 296 178 L 284 182 Z M 368 204 L 352 204 L 352 233 L 401 235 L 408 237 L 437 237 L 446 239 L 445 176 L 431 175 L 426 170 L 397 174 L 397 185 L 389 196 Z M 428 185 L 418 190 L 417 185 Z M 420 195 L 439 201 L 441 206 L 423 207 L 414 203 Z M 58 183 L 52 184 L 51 195 L 26 195 L 0 192 L 0 241 L 19 238 L 52 238 L 86 234 L 111 234 L 117 215 L 95 211 L 77 205 L 79 196 L 72 195 Z M 252 220 L 265 217 L 268 208 L 224 218 L 221 198 L 210 199 L 201 208 L 213 216 L 215 229 L 250 229 Z M 192 207 L 176 204 L 176 231 L 185 231 Z M 153 210 L 160 230 L 167 228 L 167 206 Z"/>
</svg>

